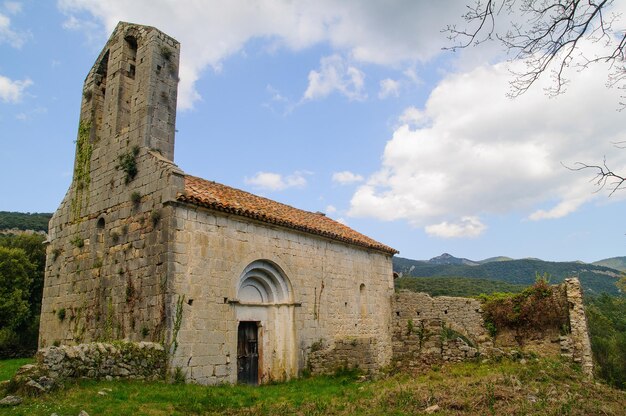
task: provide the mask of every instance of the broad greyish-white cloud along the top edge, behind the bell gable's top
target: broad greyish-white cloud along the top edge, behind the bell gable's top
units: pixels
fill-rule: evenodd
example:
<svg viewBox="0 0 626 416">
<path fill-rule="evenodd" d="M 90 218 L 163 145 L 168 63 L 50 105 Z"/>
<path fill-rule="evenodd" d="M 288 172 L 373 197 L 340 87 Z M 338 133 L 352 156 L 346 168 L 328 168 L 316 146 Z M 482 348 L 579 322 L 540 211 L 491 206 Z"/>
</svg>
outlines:
<svg viewBox="0 0 626 416">
<path fill-rule="evenodd" d="M 179 108 L 200 99 L 195 82 L 207 67 L 219 69 L 250 39 L 277 48 L 302 50 L 330 45 L 356 63 L 401 66 L 425 62 L 441 53 L 448 40 L 441 28 L 465 12 L 465 0 L 423 2 L 334 0 L 59 0 L 68 25 L 87 36 L 105 38 L 118 21 L 158 27 L 183 45 Z M 87 12 L 87 13 L 85 13 Z M 99 30 L 94 30 L 97 23 Z M 103 26 L 103 27 L 102 27 Z M 355 64 L 348 75 L 362 79 Z M 313 91 L 311 91 L 313 94 Z"/>
</svg>

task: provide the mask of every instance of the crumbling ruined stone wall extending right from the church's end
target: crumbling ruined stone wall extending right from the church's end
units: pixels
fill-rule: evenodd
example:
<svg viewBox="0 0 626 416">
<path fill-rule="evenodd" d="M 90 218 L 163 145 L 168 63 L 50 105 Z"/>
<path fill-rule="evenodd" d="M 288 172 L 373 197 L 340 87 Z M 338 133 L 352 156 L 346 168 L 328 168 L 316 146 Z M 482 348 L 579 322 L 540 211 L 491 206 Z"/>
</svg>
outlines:
<svg viewBox="0 0 626 416">
<path fill-rule="evenodd" d="M 394 361 L 398 366 L 417 367 L 521 352 L 562 356 L 591 375 L 593 360 L 580 282 L 565 279 L 553 296 L 569 305 L 569 331 L 543 328 L 520 334 L 499 328 L 494 340 L 484 326 L 478 300 L 400 291 L 392 306 Z"/>
</svg>

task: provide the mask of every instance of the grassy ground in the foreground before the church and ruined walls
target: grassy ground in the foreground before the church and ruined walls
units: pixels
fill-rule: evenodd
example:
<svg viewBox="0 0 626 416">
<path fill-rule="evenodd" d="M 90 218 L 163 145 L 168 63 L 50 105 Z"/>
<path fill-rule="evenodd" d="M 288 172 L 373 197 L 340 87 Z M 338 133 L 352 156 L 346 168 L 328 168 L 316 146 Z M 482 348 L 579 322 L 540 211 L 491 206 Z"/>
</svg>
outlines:
<svg viewBox="0 0 626 416">
<path fill-rule="evenodd" d="M 626 392 L 554 360 L 446 364 L 361 382 L 354 374 L 261 387 L 80 381 L 12 415 L 623 415 Z"/>
</svg>

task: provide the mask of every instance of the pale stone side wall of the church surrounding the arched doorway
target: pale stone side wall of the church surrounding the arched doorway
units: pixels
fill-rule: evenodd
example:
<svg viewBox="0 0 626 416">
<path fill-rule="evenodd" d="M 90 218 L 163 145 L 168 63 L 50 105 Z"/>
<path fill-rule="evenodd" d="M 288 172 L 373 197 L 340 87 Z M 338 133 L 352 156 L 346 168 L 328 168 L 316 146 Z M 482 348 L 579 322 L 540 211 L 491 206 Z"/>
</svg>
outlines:
<svg viewBox="0 0 626 416">
<path fill-rule="evenodd" d="M 176 207 L 173 225 L 172 291 L 182 320 L 172 365 L 190 380 L 237 381 L 238 320 L 260 322 L 261 381 L 297 376 L 319 342 L 333 349 L 376 339 L 372 362 L 390 361 L 391 256 L 187 205 Z M 238 302 L 241 274 L 256 260 L 284 272 L 290 302 Z"/>
</svg>

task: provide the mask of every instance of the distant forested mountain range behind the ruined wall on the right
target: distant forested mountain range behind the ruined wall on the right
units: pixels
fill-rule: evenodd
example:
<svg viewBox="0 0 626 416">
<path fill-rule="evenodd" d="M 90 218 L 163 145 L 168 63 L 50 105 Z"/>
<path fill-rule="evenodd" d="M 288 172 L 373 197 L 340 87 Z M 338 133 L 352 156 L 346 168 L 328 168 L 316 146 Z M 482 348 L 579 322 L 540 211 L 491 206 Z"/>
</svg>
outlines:
<svg viewBox="0 0 626 416">
<path fill-rule="evenodd" d="M 593 264 L 575 262 L 549 262 L 533 259 L 494 261 L 476 266 L 466 264 L 432 264 L 430 261 L 417 261 L 402 257 L 393 258 L 395 272 L 414 277 L 467 277 L 501 280 L 518 285 L 531 285 L 536 274 L 548 273 L 551 283 L 560 283 L 566 277 L 580 279 L 588 294 L 609 293 L 619 295 L 615 282 L 620 277 L 619 270 Z"/>
</svg>

